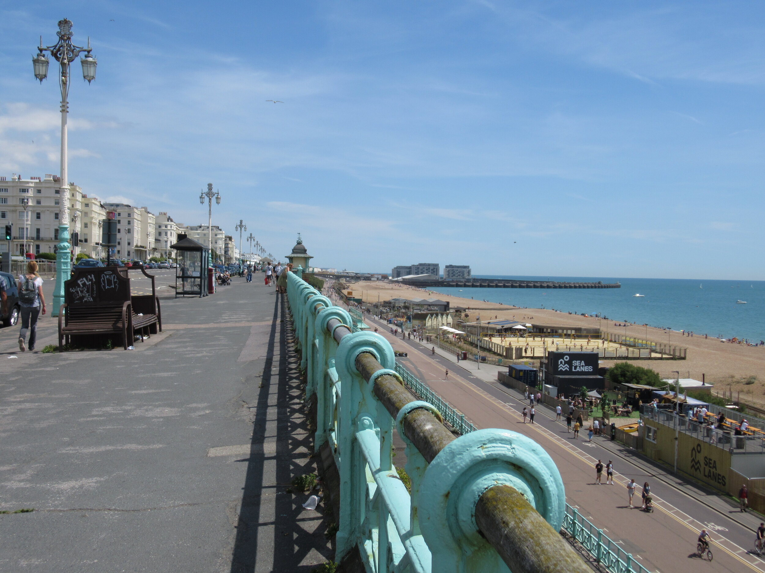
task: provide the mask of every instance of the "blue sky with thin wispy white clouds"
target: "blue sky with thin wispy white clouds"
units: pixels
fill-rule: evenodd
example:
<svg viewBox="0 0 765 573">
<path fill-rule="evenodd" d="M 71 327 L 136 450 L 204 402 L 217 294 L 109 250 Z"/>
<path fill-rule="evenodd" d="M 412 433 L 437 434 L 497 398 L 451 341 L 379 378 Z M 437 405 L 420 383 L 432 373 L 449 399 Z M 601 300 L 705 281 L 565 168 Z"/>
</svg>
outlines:
<svg viewBox="0 0 765 573">
<path fill-rule="evenodd" d="M 199 224 L 212 182 L 213 222 L 321 267 L 763 280 L 763 11 L 0 0 L 0 175 L 58 173 L 31 57 L 67 17 L 86 193 Z"/>
</svg>

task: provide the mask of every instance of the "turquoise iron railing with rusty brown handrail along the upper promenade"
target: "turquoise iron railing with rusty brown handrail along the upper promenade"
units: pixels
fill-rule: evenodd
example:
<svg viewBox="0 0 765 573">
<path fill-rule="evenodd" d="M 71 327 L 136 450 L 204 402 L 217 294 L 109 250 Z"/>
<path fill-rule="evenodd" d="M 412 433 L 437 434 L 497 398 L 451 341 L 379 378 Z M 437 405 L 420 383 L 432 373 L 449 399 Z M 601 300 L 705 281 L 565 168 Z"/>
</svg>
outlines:
<svg viewBox="0 0 765 573">
<path fill-rule="evenodd" d="M 557 533 L 565 494 L 549 455 L 509 430 L 455 436 L 406 389 L 386 339 L 352 332 L 350 313 L 300 274 L 287 275 L 287 292 L 317 400 L 314 446 L 331 448 L 340 474 L 336 560 L 357 546 L 376 573 L 589 571 Z M 411 495 L 392 464 L 394 426 Z"/>
</svg>

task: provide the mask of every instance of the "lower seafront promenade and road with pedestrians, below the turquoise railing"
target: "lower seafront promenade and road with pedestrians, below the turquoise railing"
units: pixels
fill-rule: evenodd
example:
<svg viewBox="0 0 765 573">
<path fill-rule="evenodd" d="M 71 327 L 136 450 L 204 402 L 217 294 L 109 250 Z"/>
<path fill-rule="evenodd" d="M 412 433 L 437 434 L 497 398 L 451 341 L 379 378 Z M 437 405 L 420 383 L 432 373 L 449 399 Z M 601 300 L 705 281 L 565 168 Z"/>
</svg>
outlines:
<svg viewBox="0 0 765 573">
<path fill-rule="evenodd" d="M 734 507 L 723 503 L 721 509 L 704 503 L 719 497 L 705 494 L 704 499 L 692 488 L 683 490 L 659 480 L 658 474 L 666 471 L 638 461 L 634 453 L 617 452 L 610 440 L 588 442 L 585 432 L 574 440 L 573 433 L 566 431 L 565 424 L 555 422 L 554 414 L 550 415 L 545 406 L 537 407 L 535 424 L 524 424 L 519 414 L 524 406 L 522 395 L 496 382 L 499 367 L 481 364 L 479 370 L 473 362 L 455 364 L 456 357 L 439 353 L 438 348 L 431 354 L 432 345 L 392 336 L 383 322 L 369 316 L 365 316 L 365 322 L 378 327 L 393 348 L 407 352 L 408 357 L 399 361 L 475 426 L 512 429 L 542 445 L 561 472 L 568 503 L 603 528 L 605 535 L 619 542 L 649 571 L 688 571 L 702 565 L 709 571 L 765 571 L 765 562 L 749 552 L 754 546 L 754 528 L 750 526 L 759 523 L 756 516 L 738 514 L 731 519 Z M 614 461 L 614 486 L 594 484 L 598 458 L 604 463 Z M 640 486 L 644 481 L 651 484 L 656 500 L 653 513 L 629 509 L 626 484 L 630 478 Z M 635 504 L 640 507 L 640 489 L 637 491 Z M 694 555 L 702 527 L 709 529 L 715 540 L 715 559 L 711 563 L 701 564 Z"/>
</svg>

